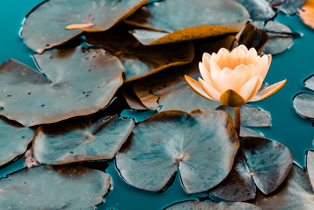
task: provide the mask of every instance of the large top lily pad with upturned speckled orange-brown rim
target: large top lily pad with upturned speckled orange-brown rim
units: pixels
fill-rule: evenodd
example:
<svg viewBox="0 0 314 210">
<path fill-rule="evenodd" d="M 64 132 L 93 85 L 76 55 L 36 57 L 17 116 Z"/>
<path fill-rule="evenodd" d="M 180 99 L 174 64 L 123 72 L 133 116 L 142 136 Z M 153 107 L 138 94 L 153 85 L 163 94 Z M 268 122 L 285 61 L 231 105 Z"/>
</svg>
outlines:
<svg viewBox="0 0 314 210">
<path fill-rule="evenodd" d="M 230 0 L 167 0 L 143 6 L 124 22 L 151 29 L 131 33 L 141 43 L 155 45 L 235 33 L 248 19 L 247 10 Z"/>
</svg>

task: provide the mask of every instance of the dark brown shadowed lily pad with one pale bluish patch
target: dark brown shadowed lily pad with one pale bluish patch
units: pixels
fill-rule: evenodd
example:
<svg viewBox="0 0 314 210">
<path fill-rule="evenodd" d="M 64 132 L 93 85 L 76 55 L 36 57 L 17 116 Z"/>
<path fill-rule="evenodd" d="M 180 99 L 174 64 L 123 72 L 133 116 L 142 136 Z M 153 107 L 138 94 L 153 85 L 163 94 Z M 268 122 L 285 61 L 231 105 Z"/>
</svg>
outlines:
<svg viewBox="0 0 314 210">
<path fill-rule="evenodd" d="M 191 42 L 145 46 L 128 33 L 128 25 L 119 24 L 110 30 L 88 33 L 85 41 L 103 47 L 118 57 L 125 68 L 124 82 L 132 81 L 169 66 L 192 62 L 194 47 Z M 123 42 L 121 41 L 123 40 Z"/>
</svg>

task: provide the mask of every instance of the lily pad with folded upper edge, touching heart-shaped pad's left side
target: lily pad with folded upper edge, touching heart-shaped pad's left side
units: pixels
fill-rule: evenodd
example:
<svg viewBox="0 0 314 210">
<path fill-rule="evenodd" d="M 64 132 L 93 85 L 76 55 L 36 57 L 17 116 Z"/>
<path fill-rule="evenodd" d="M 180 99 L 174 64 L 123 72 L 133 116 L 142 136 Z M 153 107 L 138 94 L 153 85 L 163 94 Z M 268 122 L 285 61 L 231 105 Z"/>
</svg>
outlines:
<svg viewBox="0 0 314 210">
<path fill-rule="evenodd" d="M 42 125 L 36 131 L 35 158 L 46 164 L 112 159 L 134 127 L 131 118 L 117 115 L 90 121 Z"/>
</svg>

